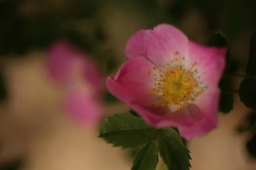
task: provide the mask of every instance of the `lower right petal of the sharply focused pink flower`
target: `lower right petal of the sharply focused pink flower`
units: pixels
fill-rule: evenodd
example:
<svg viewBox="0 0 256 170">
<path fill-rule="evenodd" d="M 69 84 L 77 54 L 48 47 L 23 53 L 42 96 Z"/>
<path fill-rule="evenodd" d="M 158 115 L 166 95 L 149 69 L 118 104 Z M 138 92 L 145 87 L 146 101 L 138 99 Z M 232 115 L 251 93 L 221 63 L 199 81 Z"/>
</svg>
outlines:
<svg viewBox="0 0 256 170">
<path fill-rule="evenodd" d="M 193 126 L 180 126 L 180 135 L 189 140 L 196 136 L 207 134 L 210 130 L 218 126 L 218 108 L 219 108 L 220 90 L 218 88 L 207 90 L 195 101 L 201 112 L 203 119 L 195 122 Z"/>
</svg>

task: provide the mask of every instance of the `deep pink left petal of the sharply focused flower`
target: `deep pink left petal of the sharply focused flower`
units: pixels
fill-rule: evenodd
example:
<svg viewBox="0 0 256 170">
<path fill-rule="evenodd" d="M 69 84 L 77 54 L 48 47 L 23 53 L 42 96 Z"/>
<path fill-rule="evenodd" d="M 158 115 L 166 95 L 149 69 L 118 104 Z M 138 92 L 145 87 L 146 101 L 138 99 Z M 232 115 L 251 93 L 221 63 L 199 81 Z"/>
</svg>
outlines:
<svg viewBox="0 0 256 170">
<path fill-rule="evenodd" d="M 107 87 L 111 94 L 123 102 L 143 99 L 148 97 L 148 91 L 154 88 L 153 71 L 154 65 L 144 57 L 134 57 L 126 61 L 117 74 L 107 79 Z"/>
</svg>

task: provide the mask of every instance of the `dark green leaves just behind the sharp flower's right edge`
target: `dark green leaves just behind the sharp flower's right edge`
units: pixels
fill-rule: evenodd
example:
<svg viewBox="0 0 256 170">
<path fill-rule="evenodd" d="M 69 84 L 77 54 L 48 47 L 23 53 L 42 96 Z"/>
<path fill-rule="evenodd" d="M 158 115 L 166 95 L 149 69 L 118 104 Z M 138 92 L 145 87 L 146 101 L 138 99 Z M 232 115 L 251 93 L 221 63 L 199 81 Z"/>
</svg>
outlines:
<svg viewBox="0 0 256 170">
<path fill-rule="evenodd" d="M 209 37 L 208 45 L 217 47 L 228 46 L 225 34 L 220 30 L 215 31 L 214 34 Z M 232 60 L 229 49 L 226 54 L 226 68 L 224 70 L 225 74 L 229 74 L 231 72 L 231 62 Z M 222 77 L 219 82 L 219 88 L 221 89 L 219 111 L 222 113 L 229 113 L 233 110 L 234 103 L 233 94 L 227 93 L 227 91 L 232 89 L 232 79 L 230 77 Z"/>
</svg>

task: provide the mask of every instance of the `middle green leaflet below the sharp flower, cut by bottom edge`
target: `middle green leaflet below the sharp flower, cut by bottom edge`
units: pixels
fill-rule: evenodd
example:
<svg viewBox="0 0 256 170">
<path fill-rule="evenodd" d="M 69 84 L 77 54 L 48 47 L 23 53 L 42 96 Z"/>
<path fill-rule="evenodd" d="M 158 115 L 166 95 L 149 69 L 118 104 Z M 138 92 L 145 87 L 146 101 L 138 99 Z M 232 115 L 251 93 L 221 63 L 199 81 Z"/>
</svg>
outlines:
<svg viewBox="0 0 256 170">
<path fill-rule="evenodd" d="M 156 170 L 157 163 L 157 144 L 153 141 L 137 152 L 131 170 Z"/>
</svg>

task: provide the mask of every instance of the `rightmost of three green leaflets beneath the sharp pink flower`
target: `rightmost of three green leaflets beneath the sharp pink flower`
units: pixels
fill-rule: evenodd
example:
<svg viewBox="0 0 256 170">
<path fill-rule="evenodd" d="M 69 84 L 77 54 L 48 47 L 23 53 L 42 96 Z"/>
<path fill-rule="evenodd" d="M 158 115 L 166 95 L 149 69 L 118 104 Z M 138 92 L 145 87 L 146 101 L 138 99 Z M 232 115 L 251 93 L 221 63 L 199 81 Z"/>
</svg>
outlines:
<svg viewBox="0 0 256 170">
<path fill-rule="evenodd" d="M 183 145 L 179 134 L 171 127 L 159 132 L 158 149 L 168 170 L 189 170 L 189 150 Z"/>
</svg>

